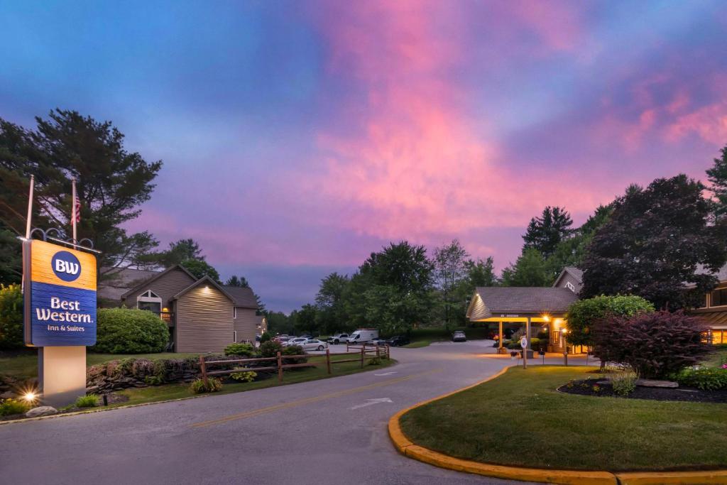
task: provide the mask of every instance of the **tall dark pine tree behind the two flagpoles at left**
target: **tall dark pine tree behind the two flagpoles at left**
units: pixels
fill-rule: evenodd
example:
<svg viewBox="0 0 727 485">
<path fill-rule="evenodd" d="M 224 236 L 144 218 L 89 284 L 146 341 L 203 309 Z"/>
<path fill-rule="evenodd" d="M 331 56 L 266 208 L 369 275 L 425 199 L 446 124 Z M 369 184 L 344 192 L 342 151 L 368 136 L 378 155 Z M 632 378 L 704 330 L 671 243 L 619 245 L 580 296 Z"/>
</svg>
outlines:
<svg viewBox="0 0 727 485">
<path fill-rule="evenodd" d="M 124 135 L 111 121 L 57 109 L 48 119 L 36 118 L 36 124 L 36 130 L 29 130 L 0 119 L 2 229 L 25 233 L 29 180 L 35 175 L 34 225 L 68 231 L 75 177 L 81 201 L 79 239 L 90 239 L 100 250 L 100 278 L 156 264 L 145 259 L 158 244 L 150 233 L 129 234 L 122 226 L 140 215 L 161 161 L 148 163 L 139 153 L 127 152 Z M 15 251 L 20 252 L 20 244 Z"/>
</svg>

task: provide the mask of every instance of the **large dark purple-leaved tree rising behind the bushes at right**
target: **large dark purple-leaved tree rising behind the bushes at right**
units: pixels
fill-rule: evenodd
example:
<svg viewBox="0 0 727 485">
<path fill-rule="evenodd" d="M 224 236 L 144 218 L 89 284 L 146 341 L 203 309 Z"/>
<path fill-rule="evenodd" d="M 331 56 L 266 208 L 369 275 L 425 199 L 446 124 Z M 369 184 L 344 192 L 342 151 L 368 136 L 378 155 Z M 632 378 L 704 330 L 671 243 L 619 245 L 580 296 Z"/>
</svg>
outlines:
<svg viewBox="0 0 727 485">
<path fill-rule="evenodd" d="M 677 175 L 616 199 L 588 246 L 581 297 L 636 294 L 668 310 L 698 305 L 727 260 L 727 225 L 710 223 L 712 204 L 703 190 L 699 181 Z M 686 291 L 685 284 L 693 288 Z"/>
</svg>

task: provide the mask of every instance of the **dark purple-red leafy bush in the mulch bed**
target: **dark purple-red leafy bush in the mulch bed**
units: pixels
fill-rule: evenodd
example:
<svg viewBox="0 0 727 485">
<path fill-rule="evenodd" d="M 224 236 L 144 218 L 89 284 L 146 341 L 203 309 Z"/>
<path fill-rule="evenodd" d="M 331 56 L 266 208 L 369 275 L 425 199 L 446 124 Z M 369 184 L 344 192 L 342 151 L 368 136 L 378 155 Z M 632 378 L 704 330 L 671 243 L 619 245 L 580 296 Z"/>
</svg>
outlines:
<svg viewBox="0 0 727 485">
<path fill-rule="evenodd" d="M 693 366 L 710 353 L 703 325 L 682 312 L 603 318 L 593 326 L 593 353 L 628 366 L 641 377 L 662 379 Z"/>
</svg>

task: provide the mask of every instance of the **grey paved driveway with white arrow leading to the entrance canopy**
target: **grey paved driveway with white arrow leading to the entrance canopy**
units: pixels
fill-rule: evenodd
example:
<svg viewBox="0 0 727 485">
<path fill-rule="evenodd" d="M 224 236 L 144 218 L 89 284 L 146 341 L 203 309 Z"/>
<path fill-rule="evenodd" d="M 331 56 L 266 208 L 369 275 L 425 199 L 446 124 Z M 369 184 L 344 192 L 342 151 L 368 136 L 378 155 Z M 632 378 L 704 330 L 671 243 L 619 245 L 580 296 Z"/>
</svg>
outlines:
<svg viewBox="0 0 727 485">
<path fill-rule="evenodd" d="M 398 365 L 361 374 L 0 425 L 0 482 L 504 484 L 402 457 L 386 428 L 399 409 L 513 363 L 492 351 L 395 348 Z"/>
</svg>

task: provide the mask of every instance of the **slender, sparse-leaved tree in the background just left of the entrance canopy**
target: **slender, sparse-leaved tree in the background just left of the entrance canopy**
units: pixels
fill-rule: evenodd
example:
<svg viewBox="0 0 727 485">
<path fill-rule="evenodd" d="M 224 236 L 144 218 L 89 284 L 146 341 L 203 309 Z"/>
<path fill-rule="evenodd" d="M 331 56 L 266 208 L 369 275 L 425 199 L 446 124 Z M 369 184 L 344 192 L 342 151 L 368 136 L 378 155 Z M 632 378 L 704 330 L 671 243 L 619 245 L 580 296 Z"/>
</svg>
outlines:
<svg viewBox="0 0 727 485">
<path fill-rule="evenodd" d="M 444 321 L 444 326 L 449 329 L 454 324 L 462 322 L 462 300 L 457 288 L 467 276 L 467 261 L 469 256 L 459 240 L 454 239 L 446 246 L 434 249 L 434 278 L 439 290 L 438 316 Z M 459 301 L 457 301 L 459 300 Z"/>
</svg>

